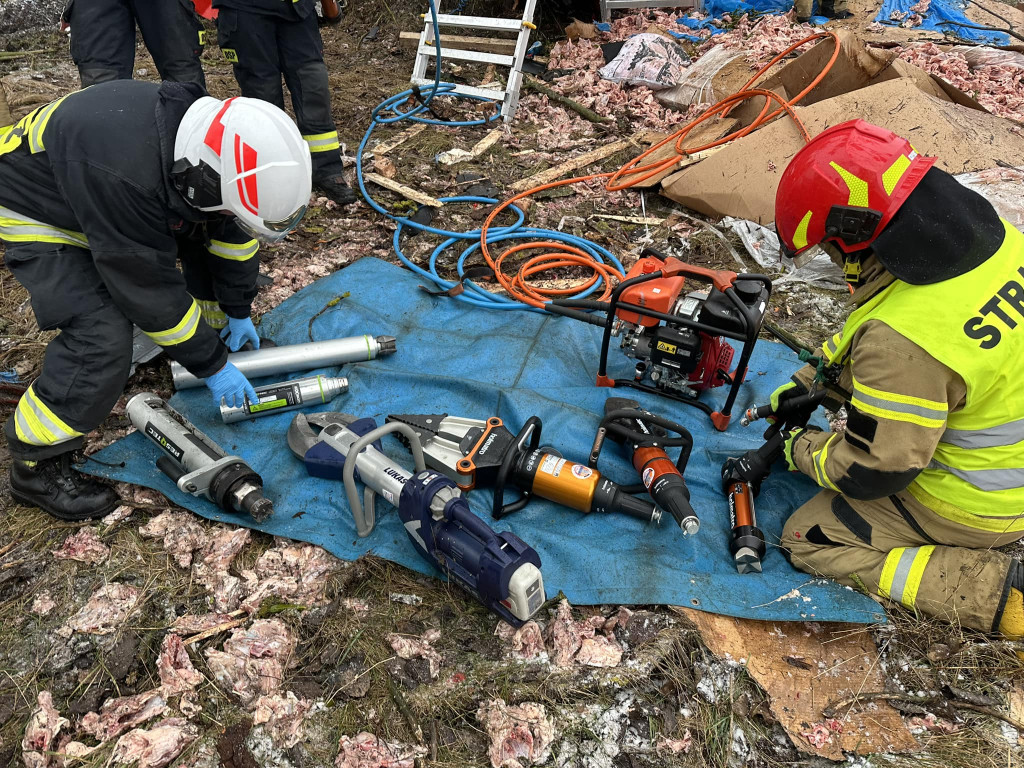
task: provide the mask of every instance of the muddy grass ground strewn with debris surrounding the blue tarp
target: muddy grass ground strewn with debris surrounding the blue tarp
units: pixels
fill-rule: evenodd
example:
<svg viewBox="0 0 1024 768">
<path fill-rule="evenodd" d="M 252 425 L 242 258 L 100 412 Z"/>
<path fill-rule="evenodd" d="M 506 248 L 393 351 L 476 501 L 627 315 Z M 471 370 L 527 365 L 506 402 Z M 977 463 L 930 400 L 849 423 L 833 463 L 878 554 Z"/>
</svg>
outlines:
<svg viewBox="0 0 1024 768">
<path fill-rule="evenodd" d="M 36 8 L 8 3 L 0 7 L 0 15 L 15 6 L 27 13 L 46 10 L 45 4 Z M 483 3 L 472 2 L 467 11 L 477 6 L 480 12 L 494 12 Z M 372 108 L 407 85 L 412 53 L 398 45 L 397 35 L 418 29 L 420 12 L 418 3 L 387 5 L 375 0 L 359 3 L 340 26 L 324 28 L 334 115 L 349 159 Z M 17 25 L 19 31 L 5 35 L 2 46 L 8 52 L 35 51 L 0 58 L 0 76 L 15 118 L 78 84 L 66 39 L 52 29 L 29 30 L 35 18 L 26 16 Z M 553 19 L 542 14 L 541 20 L 542 39 L 557 39 L 559 28 Z M 136 77 L 154 79 L 156 70 L 141 44 L 138 53 Z M 230 69 L 215 44 L 204 53 L 204 66 L 213 95 L 237 93 Z M 601 127 L 594 136 L 572 139 L 569 151 L 618 137 L 628 127 L 628 121 L 626 126 Z M 472 172 L 493 184 L 500 193 L 497 197 L 503 197 L 513 181 L 561 161 L 565 150 L 543 151 L 537 130 L 536 125 L 516 123 L 513 140 L 499 142 L 483 160 L 452 168 L 437 165 L 434 156 L 454 146 L 472 146 L 485 129 L 430 129 L 407 141 L 390 158 L 398 180 L 427 194 L 456 194 L 457 175 Z M 382 135 L 397 132 L 388 129 Z M 609 158 L 606 167 L 614 168 L 635 154 L 624 152 Z M 375 195 L 382 204 L 403 209 L 397 196 L 380 189 Z M 620 195 L 612 204 L 601 195 L 570 195 L 543 201 L 531 215 L 542 225 L 567 224 L 586 232 L 620 254 L 627 265 L 643 245 L 650 244 L 674 249 L 695 263 L 735 268 L 723 242 L 689 219 L 674 217 L 674 204 L 648 191 L 642 206 L 636 193 Z M 638 216 L 641 211 L 667 221 L 648 229 L 590 218 L 594 213 Z M 478 212 L 450 215 L 446 223 L 453 228 L 478 226 L 473 223 L 479 219 Z M 262 252 L 263 271 L 271 283 L 261 290 L 257 313 L 362 256 L 394 261 L 392 231 L 393 225 L 364 203 L 337 210 L 321 199 L 293 237 Z M 418 243 L 409 252 L 422 258 L 429 248 L 426 242 Z M 0 268 L 0 371 L 12 370 L 30 381 L 39 370 L 49 335 L 36 329 L 27 298 L 10 273 Z M 797 286 L 777 292 L 771 311 L 780 325 L 817 342 L 842 326 L 845 308 L 841 295 Z M 165 364 L 141 367 L 126 398 L 146 389 L 170 394 Z M 126 398 L 89 436 L 90 451 L 125 433 Z M 0 418 L 6 419 L 10 411 L 11 403 L 0 404 Z M 0 765 L 25 761 L 28 765 L 98 767 L 123 758 L 117 752 L 121 749 L 117 738 L 83 736 L 82 730 L 76 739 L 85 751 L 98 743 L 95 751 L 83 752 L 79 758 L 46 755 L 45 751 L 36 753 L 38 757 L 23 756 L 23 739 L 39 733 L 38 718 L 30 722 L 30 717 L 39 710 L 42 691 L 52 694 L 55 710 L 71 721 L 60 731 L 70 734 L 104 701 L 119 697 L 133 701 L 124 697 L 158 689 L 166 694 L 165 714 L 181 719 L 175 727 L 182 743 L 187 743 L 170 763 L 175 766 L 298 768 L 335 765 L 336 760 L 345 766 L 411 766 L 414 757 L 431 766 L 486 765 L 486 722 L 494 712 L 485 705 L 495 699 L 508 705 L 539 702 L 546 708 L 551 732 L 545 730 L 548 721 L 542 719 L 529 726 L 528 740 L 539 762 L 543 758 L 560 767 L 826 762 L 798 752 L 772 715 L 765 693 L 742 668 L 715 659 L 698 633 L 665 608 L 634 606 L 637 612 L 628 623 L 611 629 L 603 625 L 609 641 L 625 649 L 613 667 L 553 665 L 550 655 L 557 647 L 550 638 L 541 641 L 539 657 L 525 660 L 522 652 L 512 650 L 512 641 L 495 637 L 496 622 L 462 592 L 386 561 L 372 557 L 356 563 L 331 561 L 316 571 L 308 589 L 301 585 L 300 589 L 295 583 L 309 572 L 302 569 L 303 564 L 308 566 L 303 558 L 312 557 L 308 549 L 296 554 L 287 549 L 287 543 L 252 534 L 236 543 L 237 551 L 224 555 L 222 567 L 211 575 L 213 566 L 203 563 L 217 560 L 218 547 L 230 536 L 221 526 L 191 518 L 187 527 L 191 539 L 185 543 L 154 534 L 161 520 L 169 519 L 162 516 L 172 505 L 153 492 L 129 485 L 119 488 L 124 500 L 121 519 L 99 524 L 54 523 L 37 510 L 10 502 L 4 487 L 8 465 L 6 450 L 0 447 Z M 181 519 L 175 518 L 178 523 Z M 77 543 L 91 543 L 89 552 L 79 552 L 86 561 L 53 554 L 61 550 L 67 554 L 66 540 L 73 535 L 83 537 Z M 92 552 L 99 559 L 92 559 Z M 298 569 L 293 565 L 291 571 L 285 566 L 274 570 L 274 563 L 280 565 L 288 557 L 298 559 Z M 259 585 L 273 578 L 279 579 L 278 589 L 260 592 Z M 221 604 L 225 580 L 230 579 L 245 585 L 240 594 L 250 601 L 252 616 L 227 610 L 237 609 L 237 602 Z M 111 584 L 125 585 L 131 593 L 132 607 L 123 621 L 105 628 L 110 632 L 104 634 L 62 629 L 84 622 L 82 610 L 90 598 Z M 113 603 L 106 608 L 114 610 Z M 180 656 L 175 664 L 167 662 L 168 656 L 161 660 L 171 642 L 169 630 L 177 620 L 214 609 L 220 611 L 215 622 L 220 631 L 204 636 L 197 628 L 182 630 L 187 660 Z M 542 611 L 549 628 L 558 622 L 553 602 Z M 583 607 L 575 609 L 572 620 L 582 622 L 597 614 L 617 615 L 615 606 Z M 892 624 L 876 632 L 878 660 L 899 678 L 902 690 L 932 691 L 949 684 L 998 703 L 1024 680 L 1024 664 L 1006 644 L 919 622 L 898 609 L 891 615 Z M 274 624 L 260 624 L 267 622 Z M 234 672 L 217 666 L 217 654 L 231 647 L 225 638 L 257 632 L 261 626 L 294 641 L 278 667 L 260 666 L 276 663 L 273 648 L 253 651 Z M 433 638 L 427 634 L 432 630 L 438 630 L 439 637 L 429 640 L 422 652 L 410 653 L 400 643 L 396 647 L 395 637 Z M 171 693 L 169 664 L 186 671 L 194 667 L 198 672 L 184 692 Z M 178 675 L 182 676 L 189 677 Z M 259 693 L 267 700 L 258 699 Z M 259 701 L 264 710 L 291 710 L 266 722 Z M 910 709 L 905 714 L 922 713 Z M 939 725 L 933 722 L 934 727 L 921 729 L 920 754 L 871 756 L 852 764 L 971 768 L 1022 764 L 1024 754 L 1013 743 L 1015 734 L 1000 728 L 997 720 L 963 710 L 943 709 L 939 715 Z M 127 714 L 123 721 L 136 724 Z M 144 719 L 137 722 L 144 727 Z M 291 737 L 285 733 L 290 723 L 299 729 Z M 353 757 L 369 755 L 366 749 L 360 753 L 353 746 L 356 741 L 352 739 L 362 732 L 394 745 L 390 753 L 385 751 L 385 762 L 359 763 Z M 72 754 L 68 740 L 67 735 L 56 736 L 47 749 Z M 367 746 L 366 741 L 358 743 Z M 517 742 L 520 752 L 523 743 L 522 739 Z M 379 748 L 380 742 L 375 744 Z M 348 758 L 352 762 L 342 762 Z M 151 755 L 142 764 L 166 763 Z M 522 765 L 527 764 L 522 758 Z"/>
</svg>

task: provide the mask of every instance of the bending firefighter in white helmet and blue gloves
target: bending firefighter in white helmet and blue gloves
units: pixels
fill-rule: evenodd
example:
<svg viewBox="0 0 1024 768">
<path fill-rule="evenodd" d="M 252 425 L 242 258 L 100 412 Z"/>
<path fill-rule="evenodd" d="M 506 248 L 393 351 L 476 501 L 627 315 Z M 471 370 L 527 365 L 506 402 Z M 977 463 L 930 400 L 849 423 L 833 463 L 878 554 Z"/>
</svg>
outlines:
<svg viewBox="0 0 1024 768">
<path fill-rule="evenodd" d="M 259 345 L 256 239 L 295 227 L 310 172 L 284 112 L 191 83 L 102 83 L 0 129 L 4 260 L 60 331 L 6 424 L 14 499 L 70 520 L 117 505 L 74 465 L 128 379 L 133 324 L 216 404 L 255 397 L 227 352 Z"/>
</svg>

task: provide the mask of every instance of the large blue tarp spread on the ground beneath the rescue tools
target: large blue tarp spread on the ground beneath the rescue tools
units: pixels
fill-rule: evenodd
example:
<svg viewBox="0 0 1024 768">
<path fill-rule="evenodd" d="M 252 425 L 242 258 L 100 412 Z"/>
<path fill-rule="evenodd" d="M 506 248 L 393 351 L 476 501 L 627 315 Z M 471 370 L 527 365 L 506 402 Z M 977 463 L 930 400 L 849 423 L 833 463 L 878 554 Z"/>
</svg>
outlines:
<svg viewBox="0 0 1024 768">
<path fill-rule="evenodd" d="M 388 413 L 450 413 L 480 419 L 497 415 L 513 429 L 536 415 L 544 421 L 543 442 L 585 461 L 604 400 L 623 395 L 635 396 L 652 412 L 683 423 L 696 438 L 686 471 L 693 507 L 701 518 L 695 537 L 685 538 L 671 518 L 650 527 L 625 516 L 585 516 L 542 501 L 497 524 L 514 530 L 540 553 L 549 595 L 561 590 L 579 604 L 692 605 L 763 620 L 884 621 L 872 600 L 796 571 L 775 547 L 769 548 L 762 574 L 739 575 L 730 559 L 719 468 L 726 457 L 760 444 L 762 430 L 743 429 L 738 415 L 749 404 L 766 401 L 792 373 L 797 364 L 786 349 L 759 343 L 733 424 L 728 432 L 718 433 L 695 409 L 635 390 L 595 387 L 600 329 L 543 313 L 470 308 L 426 295 L 417 288 L 419 282 L 404 269 L 365 258 L 264 315 L 260 331 L 279 344 L 308 341 L 309 318 L 332 298 L 349 292 L 348 298 L 316 318 L 316 339 L 360 334 L 397 337 L 395 354 L 345 367 L 349 392 L 319 410 L 372 416 L 378 423 Z M 617 348 L 612 352 L 610 373 L 628 375 L 631 362 Z M 338 370 L 322 373 L 337 375 Z M 716 390 L 714 395 L 721 398 L 724 393 Z M 373 552 L 436 574 L 409 543 L 397 512 L 384 502 L 378 507 L 376 530 L 366 539 L 356 537 L 342 484 L 309 478 L 289 452 L 285 434 L 293 414 L 228 426 L 220 422 L 205 388 L 179 392 L 171 403 L 262 474 L 276 511 L 253 527 L 318 544 L 345 559 Z M 397 440 L 388 438 L 385 446 L 411 465 Z M 106 447 L 97 458 L 127 463 L 124 468 L 90 463 L 97 474 L 156 488 L 203 517 L 252 525 L 248 518 L 222 514 L 212 504 L 178 492 L 155 467 L 157 447 L 138 433 Z M 613 444 L 605 447 L 599 468 L 622 482 L 635 481 L 635 473 Z M 785 517 L 816 492 L 810 480 L 783 469 L 771 475 L 757 503 L 769 540 L 777 541 Z M 489 520 L 488 494 L 474 490 L 470 502 Z M 791 594 L 794 589 L 800 594 Z"/>
</svg>

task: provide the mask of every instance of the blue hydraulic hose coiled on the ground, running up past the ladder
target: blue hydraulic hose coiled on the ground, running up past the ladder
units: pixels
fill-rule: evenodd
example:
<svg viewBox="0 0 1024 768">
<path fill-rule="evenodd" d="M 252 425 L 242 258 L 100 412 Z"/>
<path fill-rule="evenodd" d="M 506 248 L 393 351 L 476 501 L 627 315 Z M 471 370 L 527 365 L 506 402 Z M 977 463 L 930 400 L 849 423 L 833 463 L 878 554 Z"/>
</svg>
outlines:
<svg viewBox="0 0 1024 768">
<path fill-rule="evenodd" d="M 501 117 L 500 114 L 492 115 L 488 118 L 480 118 L 477 120 L 464 120 L 464 121 L 446 121 L 437 120 L 432 117 L 423 117 L 425 113 L 429 113 L 430 102 L 433 100 L 434 96 L 441 95 L 452 95 L 456 97 L 466 98 L 472 101 L 489 101 L 490 99 L 482 98 L 480 96 L 468 96 L 461 93 L 456 93 L 455 85 L 453 83 L 442 83 L 441 82 L 441 36 L 440 29 L 437 24 L 437 8 L 434 4 L 434 0 L 427 0 L 430 4 L 430 19 L 431 26 L 434 33 L 434 49 L 435 49 L 435 63 L 434 63 L 434 82 L 430 86 L 425 86 L 422 89 L 410 88 L 403 90 L 400 93 L 396 93 L 393 96 L 381 101 L 377 106 L 374 108 L 373 113 L 370 116 L 370 125 L 367 128 L 366 133 L 362 135 L 362 140 L 359 141 L 359 148 L 355 157 L 355 177 L 359 185 L 359 191 L 362 194 L 364 199 L 378 213 L 387 216 L 392 219 L 396 224 L 394 231 L 394 237 L 392 238 L 392 245 L 394 247 L 394 252 L 398 256 L 398 259 L 407 267 L 412 269 L 417 274 L 420 274 L 432 283 L 436 284 L 443 290 L 447 290 L 457 285 L 452 281 L 444 280 L 440 276 L 437 271 L 437 260 L 442 253 L 447 249 L 459 243 L 468 243 L 468 245 L 463 249 L 462 253 L 459 255 L 458 261 L 456 262 L 457 273 L 460 281 L 463 282 L 464 287 L 467 289 L 465 292 L 455 296 L 457 301 L 469 304 L 471 306 L 481 306 L 488 307 L 490 309 L 519 309 L 519 310 L 530 310 L 530 311 L 543 311 L 536 307 L 531 307 L 527 304 L 523 304 L 520 301 L 511 299 L 507 296 L 502 296 L 500 294 L 490 293 L 483 288 L 475 285 L 472 281 L 463 280 L 465 275 L 465 263 L 469 256 L 472 256 L 480 249 L 480 230 L 471 229 L 469 231 L 458 232 L 450 229 L 442 229 L 436 226 L 430 226 L 428 224 L 421 224 L 417 221 L 413 221 L 408 216 L 395 216 L 386 208 L 381 206 L 377 201 L 370 197 L 370 193 L 367 190 L 366 181 L 362 177 L 362 156 L 366 152 L 367 144 L 370 141 L 370 137 L 373 135 L 374 129 L 379 125 L 391 125 L 393 123 L 398 123 L 403 120 L 408 120 L 413 123 L 423 123 L 426 125 L 444 125 L 444 126 L 475 126 L 475 125 L 486 125 Z M 402 112 L 399 110 L 399 105 L 408 101 L 411 97 L 416 97 L 420 103 L 412 106 L 409 110 Z M 483 204 L 497 204 L 498 201 L 495 198 L 482 198 L 476 196 L 457 196 L 451 198 L 439 198 L 441 203 L 483 203 Z M 522 209 L 516 206 L 509 206 L 509 210 L 515 215 L 515 221 L 504 227 L 488 228 L 487 229 L 487 244 L 500 243 L 510 240 L 537 240 L 543 239 L 546 241 L 554 241 L 558 243 L 565 243 L 574 248 L 579 248 L 581 251 L 587 253 L 594 261 L 602 263 L 610 263 L 620 272 L 625 271 L 622 262 L 615 258 L 606 248 L 597 245 L 585 238 L 580 238 L 574 234 L 568 234 L 566 232 L 561 232 L 555 229 L 543 229 L 532 226 L 523 226 L 526 216 L 522 212 Z M 436 234 L 443 238 L 441 244 L 437 246 L 433 252 L 430 254 L 430 258 L 427 263 L 426 269 L 418 264 L 413 263 L 413 261 L 406 256 L 401 250 L 401 233 L 406 227 L 416 229 L 421 232 L 428 232 L 430 234 Z M 571 298 L 586 298 L 597 290 L 601 286 L 602 280 L 598 280 L 593 286 L 590 286 L 586 290 L 581 291 L 579 294 Z"/>
</svg>

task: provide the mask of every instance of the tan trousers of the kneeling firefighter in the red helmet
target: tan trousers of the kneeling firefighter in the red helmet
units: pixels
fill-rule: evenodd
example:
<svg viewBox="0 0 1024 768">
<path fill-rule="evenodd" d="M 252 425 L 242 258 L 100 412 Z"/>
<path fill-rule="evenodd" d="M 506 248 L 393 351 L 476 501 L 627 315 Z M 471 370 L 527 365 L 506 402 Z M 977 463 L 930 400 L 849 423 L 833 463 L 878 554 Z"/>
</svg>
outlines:
<svg viewBox="0 0 1024 768">
<path fill-rule="evenodd" d="M 995 632 L 1015 561 L 992 548 L 1022 537 L 952 522 L 905 492 L 858 501 L 822 490 L 786 520 L 781 546 L 808 573 Z"/>
</svg>

